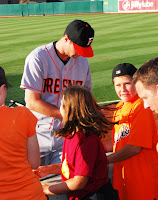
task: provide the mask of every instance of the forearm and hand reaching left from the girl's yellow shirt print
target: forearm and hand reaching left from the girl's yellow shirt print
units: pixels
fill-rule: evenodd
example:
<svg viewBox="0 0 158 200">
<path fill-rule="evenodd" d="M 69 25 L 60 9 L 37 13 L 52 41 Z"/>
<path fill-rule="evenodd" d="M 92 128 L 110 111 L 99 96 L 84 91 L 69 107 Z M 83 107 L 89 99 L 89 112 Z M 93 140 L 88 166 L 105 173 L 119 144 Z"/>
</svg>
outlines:
<svg viewBox="0 0 158 200">
<path fill-rule="evenodd" d="M 61 174 L 61 163 L 39 166 L 34 173 L 40 178 L 47 176 L 48 174 Z"/>
</svg>

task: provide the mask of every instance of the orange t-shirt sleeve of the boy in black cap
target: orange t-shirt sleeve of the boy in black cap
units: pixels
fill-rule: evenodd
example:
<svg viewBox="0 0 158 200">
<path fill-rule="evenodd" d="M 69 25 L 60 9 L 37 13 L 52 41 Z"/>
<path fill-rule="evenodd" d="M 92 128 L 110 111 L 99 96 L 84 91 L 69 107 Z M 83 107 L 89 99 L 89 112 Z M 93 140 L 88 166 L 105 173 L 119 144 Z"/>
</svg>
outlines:
<svg viewBox="0 0 158 200">
<path fill-rule="evenodd" d="M 130 124 L 128 144 L 144 148 L 152 148 L 152 136 L 155 128 L 154 118 L 150 109 L 138 106 L 134 111 Z"/>
</svg>

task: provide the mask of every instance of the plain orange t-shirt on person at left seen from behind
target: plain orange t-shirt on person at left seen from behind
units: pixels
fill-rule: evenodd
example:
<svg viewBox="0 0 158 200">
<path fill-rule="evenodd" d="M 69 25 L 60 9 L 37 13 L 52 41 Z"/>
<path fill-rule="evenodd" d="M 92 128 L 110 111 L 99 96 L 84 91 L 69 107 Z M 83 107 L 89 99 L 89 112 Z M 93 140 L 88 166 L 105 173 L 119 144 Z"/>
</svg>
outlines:
<svg viewBox="0 0 158 200">
<path fill-rule="evenodd" d="M 27 138 L 36 123 L 26 107 L 0 108 L 0 199 L 47 199 L 27 159 Z"/>
</svg>

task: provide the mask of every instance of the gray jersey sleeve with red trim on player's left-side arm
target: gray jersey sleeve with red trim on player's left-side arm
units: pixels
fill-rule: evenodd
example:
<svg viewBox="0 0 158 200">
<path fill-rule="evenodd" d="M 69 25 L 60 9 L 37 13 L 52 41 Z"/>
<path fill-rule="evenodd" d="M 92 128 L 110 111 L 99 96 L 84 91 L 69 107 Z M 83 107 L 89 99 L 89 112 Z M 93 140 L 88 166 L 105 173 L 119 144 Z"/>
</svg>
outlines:
<svg viewBox="0 0 158 200">
<path fill-rule="evenodd" d="M 41 93 L 43 83 L 42 62 L 37 55 L 31 53 L 25 60 L 24 73 L 20 88 Z"/>
</svg>

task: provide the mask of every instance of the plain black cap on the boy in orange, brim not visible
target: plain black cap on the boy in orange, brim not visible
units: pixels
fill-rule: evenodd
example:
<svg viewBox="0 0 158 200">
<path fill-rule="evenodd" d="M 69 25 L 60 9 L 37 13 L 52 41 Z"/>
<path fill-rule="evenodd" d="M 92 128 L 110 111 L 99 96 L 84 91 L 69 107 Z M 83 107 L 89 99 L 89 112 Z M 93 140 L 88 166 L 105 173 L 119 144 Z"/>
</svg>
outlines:
<svg viewBox="0 0 158 200">
<path fill-rule="evenodd" d="M 133 74 L 136 71 L 137 68 L 130 63 L 118 64 L 112 71 L 112 80 L 117 76 L 123 76 L 123 75 L 133 76 Z"/>
</svg>

